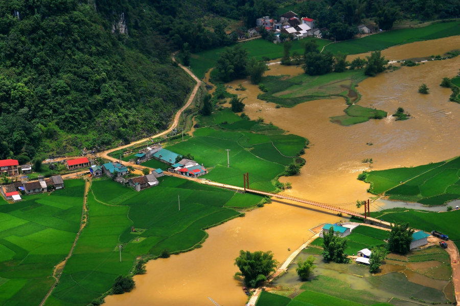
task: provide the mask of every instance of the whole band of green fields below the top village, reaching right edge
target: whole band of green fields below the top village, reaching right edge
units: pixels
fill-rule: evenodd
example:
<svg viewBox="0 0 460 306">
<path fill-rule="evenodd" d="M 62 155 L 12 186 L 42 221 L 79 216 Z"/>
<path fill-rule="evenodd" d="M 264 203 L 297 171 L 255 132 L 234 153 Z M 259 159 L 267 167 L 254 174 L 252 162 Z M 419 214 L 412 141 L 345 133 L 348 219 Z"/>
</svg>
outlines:
<svg viewBox="0 0 460 306">
<path fill-rule="evenodd" d="M 411 43 L 427 39 L 438 39 L 448 36 L 460 35 L 458 22 L 440 22 L 430 24 L 423 28 L 400 29 L 378 33 L 363 38 L 331 43 L 326 39 L 317 39 L 318 49 L 330 50 L 332 53 L 338 51 L 347 54 L 359 54 L 374 50 L 382 50 L 398 44 Z M 312 39 L 312 38 L 307 38 Z M 303 43 L 306 39 L 296 40 L 291 48 L 291 54 L 294 51 L 303 54 Z M 283 44 L 274 44 L 263 39 L 250 40 L 243 45 L 249 51 L 249 57 L 256 57 L 261 60 L 262 57 L 278 59 L 282 57 Z M 190 67 L 198 78 L 204 78 L 204 73 L 216 65 L 219 53 L 225 48 L 216 48 L 199 52 L 192 55 Z"/>
</svg>

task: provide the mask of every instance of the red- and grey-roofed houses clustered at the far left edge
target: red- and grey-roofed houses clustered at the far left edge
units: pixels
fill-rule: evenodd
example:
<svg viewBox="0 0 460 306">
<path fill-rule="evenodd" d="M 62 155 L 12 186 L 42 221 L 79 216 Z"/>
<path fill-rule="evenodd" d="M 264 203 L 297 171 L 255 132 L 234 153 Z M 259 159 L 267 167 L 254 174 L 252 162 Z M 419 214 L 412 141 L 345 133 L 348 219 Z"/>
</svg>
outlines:
<svg viewBox="0 0 460 306">
<path fill-rule="evenodd" d="M 3 173 L 6 172 L 11 176 L 19 175 L 19 163 L 17 160 L 1 160 L 0 165 L 2 165 Z M 54 175 L 47 179 L 39 175 L 36 181 L 29 181 L 28 176 L 22 176 L 19 179 L 20 181 L 0 186 L 0 193 L 6 200 L 17 202 L 22 200 L 21 194 L 42 193 L 64 188 L 64 181 L 61 175 Z"/>
</svg>

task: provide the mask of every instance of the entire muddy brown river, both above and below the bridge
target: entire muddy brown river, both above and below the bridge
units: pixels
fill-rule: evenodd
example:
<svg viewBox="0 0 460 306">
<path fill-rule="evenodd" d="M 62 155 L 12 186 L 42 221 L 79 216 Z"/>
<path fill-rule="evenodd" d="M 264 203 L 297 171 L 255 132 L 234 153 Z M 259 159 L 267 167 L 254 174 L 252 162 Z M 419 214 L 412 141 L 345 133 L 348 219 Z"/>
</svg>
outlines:
<svg viewBox="0 0 460 306">
<path fill-rule="evenodd" d="M 455 39 L 460 45 L 458 37 Z M 410 48 L 411 54 L 402 58 L 429 56 L 440 44 L 430 41 L 427 45 L 413 43 L 396 48 Z M 421 44 L 425 52 L 418 53 Z M 447 50 L 455 47 L 448 46 Z M 382 52 L 397 50 L 384 50 Z M 402 52 L 402 51 L 401 51 Z M 416 54 L 417 53 L 417 54 Z M 403 54 L 401 54 L 403 55 Z M 387 56 L 387 58 L 390 58 Z M 272 65 L 269 74 L 298 74 L 303 71 L 293 66 Z M 416 67 L 402 67 L 369 78 L 357 88 L 362 94 L 359 105 L 396 112 L 403 107 L 412 117 L 395 121 L 392 117 L 370 120 L 352 126 L 340 126 L 330 122 L 331 116 L 343 114 L 347 107 L 343 98 L 309 101 L 293 108 L 276 109 L 272 103 L 257 99 L 259 89 L 248 80 L 229 83 L 234 88 L 239 83 L 246 91 L 234 91 L 247 96 L 245 113 L 250 118 L 263 117 L 265 122 L 302 135 L 311 142 L 303 156 L 307 164 L 297 176 L 282 177 L 291 182 L 293 189 L 287 191 L 295 196 L 326 202 L 343 203 L 366 199 L 368 184 L 356 180 L 358 173 L 369 165 L 361 163 L 373 158 L 373 170 L 401 166 L 418 166 L 438 162 L 460 155 L 460 105 L 450 102 L 450 89 L 439 86 L 442 78 L 454 77 L 460 68 L 460 57 L 427 62 Z M 289 71 L 289 72 L 288 72 Z M 418 87 L 426 83 L 430 94 L 422 95 Z M 372 142 L 369 146 L 366 143 Z M 384 207 L 384 203 L 381 203 Z M 134 277 L 136 288 L 127 294 L 106 297 L 107 305 L 212 305 L 208 297 L 225 306 L 240 306 L 246 302 L 241 283 L 232 275 L 237 271 L 233 265 L 240 249 L 271 250 L 275 258 L 284 261 L 303 240 L 313 234 L 309 228 L 323 222 L 335 222 L 334 214 L 312 209 L 302 209 L 273 202 L 262 209 L 246 213 L 208 230 L 209 238 L 203 247 L 169 259 L 150 261 L 148 273 Z"/>
</svg>

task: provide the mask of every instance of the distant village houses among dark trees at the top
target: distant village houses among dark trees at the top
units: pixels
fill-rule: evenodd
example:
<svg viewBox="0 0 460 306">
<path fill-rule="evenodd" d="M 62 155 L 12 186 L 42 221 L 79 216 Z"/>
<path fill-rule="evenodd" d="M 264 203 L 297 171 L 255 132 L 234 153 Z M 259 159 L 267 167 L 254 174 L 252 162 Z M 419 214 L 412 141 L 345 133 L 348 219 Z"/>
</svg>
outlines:
<svg viewBox="0 0 460 306">
<path fill-rule="evenodd" d="M 265 28 L 267 32 L 274 34 L 274 43 L 280 43 L 284 41 L 280 36 L 282 33 L 286 35 L 292 35 L 293 39 L 302 39 L 305 37 L 318 37 L 325 38 L 329 35 L 328 28 L 316 28 L 315 20 L 308 17 L 299 17 L 296 13 L 289 11 L 280 16 L 280 20 L 264 16 L 256 19 L 256 27 L 250 28 L 244 33 L 241 30 L 237 31 L 238 39 L 244 39 L 246 37 L 253 37 L 260 34 L 262 28 Z M 375 25 L 366 24 L 359 25 L 358 31 L 360 34 L 374 33 L 376 30 Z"/>
</svg>

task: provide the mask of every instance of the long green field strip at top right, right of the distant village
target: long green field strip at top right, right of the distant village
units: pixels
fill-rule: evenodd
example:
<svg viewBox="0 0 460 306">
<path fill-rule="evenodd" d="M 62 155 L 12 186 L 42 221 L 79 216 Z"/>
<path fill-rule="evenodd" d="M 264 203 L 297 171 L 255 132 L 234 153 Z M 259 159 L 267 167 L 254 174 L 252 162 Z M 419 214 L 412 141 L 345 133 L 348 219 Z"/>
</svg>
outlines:
<svg viewBox="0 0 460 306">
<path fill-rule="evenodd" d="M 332 53 L 340 51 L 347 54 L 358 54 L 373 50 L 382 50 L 409 41 L 412 42 L 413 39 L 420 41 L 460 35 L 458 24 L 458 22 L 443 22 L 431 24 L 423 28 L 388 31 L 359 39 L 330 44 L 325 47 L 325 50 L 330 50 Z"/>
</svg>

